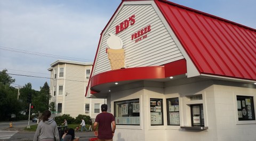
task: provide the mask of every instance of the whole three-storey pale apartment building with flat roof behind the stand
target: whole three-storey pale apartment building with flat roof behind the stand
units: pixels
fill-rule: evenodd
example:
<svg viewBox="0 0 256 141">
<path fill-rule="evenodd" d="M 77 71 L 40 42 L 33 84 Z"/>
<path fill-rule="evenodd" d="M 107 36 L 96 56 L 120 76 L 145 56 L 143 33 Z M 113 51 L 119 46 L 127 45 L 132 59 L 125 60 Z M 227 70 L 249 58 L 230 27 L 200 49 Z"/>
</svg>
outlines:
<svg viewBox="0 0 256 141">
<path fill-rule="evenodd" d="M 106 99 L 86 98 L 85 91 L 90 78 L 93 63 L 57 60 L 51 64 L 50 93 L 58 113 L 77 117 L 85 114 L 92 119 L 100 113 L 100 106 Z"/>
</svg>

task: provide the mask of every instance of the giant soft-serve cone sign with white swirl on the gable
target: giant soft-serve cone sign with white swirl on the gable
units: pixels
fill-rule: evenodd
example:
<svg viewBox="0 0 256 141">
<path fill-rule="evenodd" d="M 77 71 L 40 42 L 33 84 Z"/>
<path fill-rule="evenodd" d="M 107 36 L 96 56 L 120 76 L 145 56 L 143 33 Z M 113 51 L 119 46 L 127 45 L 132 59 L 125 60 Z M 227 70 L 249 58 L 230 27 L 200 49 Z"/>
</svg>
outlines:
<svg viewBox="0 0 256 141">
<path fill-rule="evenodd" d="M 108 59 L 110 61 L 111 69 L 120 69 L 125 67 L 124 63 L 124 49 L 123 49 L 123 41 L 115 36 L 113 33 L 109 33 L 110 37 L 107 40 L 107 45 L 109 49 Z"/>
</svg>

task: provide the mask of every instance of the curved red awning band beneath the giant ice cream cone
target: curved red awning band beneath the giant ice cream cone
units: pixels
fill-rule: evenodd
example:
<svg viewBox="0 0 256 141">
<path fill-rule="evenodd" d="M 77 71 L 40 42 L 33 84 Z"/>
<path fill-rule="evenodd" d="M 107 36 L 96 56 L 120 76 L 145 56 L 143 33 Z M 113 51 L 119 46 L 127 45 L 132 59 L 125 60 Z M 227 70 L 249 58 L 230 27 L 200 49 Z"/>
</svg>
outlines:
<svg viewBox="0 0 256 141">
<path fill-rule="evenodd" d="M 95 94 L 94 86 L 120 81 L 160 79 L 170 76 L 186 74 L 186 60 L 181 59 L 163 66 L 135 67 L 110 70 L 91 77 L 91 93 Z"/>
</svg>

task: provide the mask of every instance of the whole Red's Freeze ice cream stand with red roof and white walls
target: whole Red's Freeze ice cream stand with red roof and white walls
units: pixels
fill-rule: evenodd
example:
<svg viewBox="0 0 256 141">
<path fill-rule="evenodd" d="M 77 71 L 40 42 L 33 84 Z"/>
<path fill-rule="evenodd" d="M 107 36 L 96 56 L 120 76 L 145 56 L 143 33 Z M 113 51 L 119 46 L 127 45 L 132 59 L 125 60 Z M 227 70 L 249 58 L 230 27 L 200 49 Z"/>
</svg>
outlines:
<svg viewBox="0 0 256 141">
<path fill-rule="evenodd" d="M 122 1 L 86 96 L 113 140 L 256 140 L 256 30 L 169 1 Z"/>
</svg>

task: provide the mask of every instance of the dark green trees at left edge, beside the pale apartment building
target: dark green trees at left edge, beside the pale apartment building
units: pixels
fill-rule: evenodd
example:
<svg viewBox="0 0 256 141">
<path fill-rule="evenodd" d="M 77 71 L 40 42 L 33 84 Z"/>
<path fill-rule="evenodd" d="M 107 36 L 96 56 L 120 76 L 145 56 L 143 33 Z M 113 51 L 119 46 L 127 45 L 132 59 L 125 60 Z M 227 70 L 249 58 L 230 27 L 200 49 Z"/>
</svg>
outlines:
<svg viewBox="0 0 256 141">
<path fill-rule="evenodd" d="M 11 118 L 11 114 L 18 115 L 20 112 L 25 112 L 28 117 L 29 113 L 29 99 L 31 95 L 31 104 L 35 105 L 35 109 L 31 110 L 30 114 L 43 112 L 49 109 L 49 100 L 51 99 L 50 87 L 47 82 L 43 87 L 40 87 L 40 91 L 32 89 L 32 84 L 27 83 L 20 89 L 20 95 L 18 100 L 18 89 L 11 86 L 15 82 L 7 70 L 4 69 L 0 72 L 0 121 L 2 120 L 14 120 Z M 53 103 L 54 104 L 54 103 Z M 52 107 L 55 109 L 55 107 Z M 55 110 L 52 110 L 55 111 Z M 23 116 L 15 118 L 15 120 L 24 119 Z"/>
</svg>

